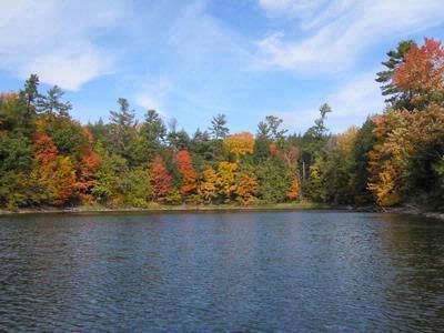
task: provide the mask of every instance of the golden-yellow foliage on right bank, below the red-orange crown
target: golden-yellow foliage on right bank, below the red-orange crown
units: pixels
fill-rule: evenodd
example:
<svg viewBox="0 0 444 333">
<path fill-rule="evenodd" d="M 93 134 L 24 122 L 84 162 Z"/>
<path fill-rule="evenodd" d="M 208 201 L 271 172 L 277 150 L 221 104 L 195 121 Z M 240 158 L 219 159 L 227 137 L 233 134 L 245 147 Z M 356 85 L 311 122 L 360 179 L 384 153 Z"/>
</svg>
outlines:
<svg viewBox="0 0 444 333">
<path fill-rule="evenodd" d="M 436 148 L 444 138 L 444 109 L 431 105 L 424 111 L 391 110 L 373 120 L 376 144 L 369 153 L 369 189 L 377 203 L 393 205 L 406 195 L 413 175 L 426 178 L 412 170 L 418 153 L 425 150 L 428 158 L 440 159 Z"/>
</svg>

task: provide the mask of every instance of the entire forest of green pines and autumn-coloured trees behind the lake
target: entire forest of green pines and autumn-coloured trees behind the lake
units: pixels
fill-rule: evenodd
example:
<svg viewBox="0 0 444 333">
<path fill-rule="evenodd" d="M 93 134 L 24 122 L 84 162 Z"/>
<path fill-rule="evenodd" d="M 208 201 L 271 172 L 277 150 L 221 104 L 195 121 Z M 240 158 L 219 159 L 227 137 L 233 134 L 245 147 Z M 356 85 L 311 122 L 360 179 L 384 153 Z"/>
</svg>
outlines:
<svg viewBox="0 0 444 333">
<path fill-rule="evenodd" d="M 444 209 L 444 47 L 402 41 L 375 74 L 386 99 L 361 127 L 332 134 L 329 104 L 304 133 L 268 115 L 230 133 L 224 114 L 193 134 L 155 110 L 135 119 L 118 100 L 109 121 L 82 124 L 57 85 L 31 74 L 0 94 L 0 206 L 100 204 L 403 204 Z"/>
</svg>

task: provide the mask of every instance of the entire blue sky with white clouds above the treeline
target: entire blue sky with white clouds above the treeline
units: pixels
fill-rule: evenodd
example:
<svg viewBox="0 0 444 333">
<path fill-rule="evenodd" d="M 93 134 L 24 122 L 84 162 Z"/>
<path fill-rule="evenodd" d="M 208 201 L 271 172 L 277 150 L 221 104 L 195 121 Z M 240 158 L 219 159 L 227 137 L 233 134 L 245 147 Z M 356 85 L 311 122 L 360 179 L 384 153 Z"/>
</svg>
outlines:
<svg viewBox="0 0 444 333">
<path fill-rule="evenodd" d="M 119 97 L 193 132 L 225 113 L 232 132 L 268 114 L 303 132 L 333 108 L 333 132 L 384 108 L 375 72 L 402 39 L 443 39 L 443 0 L 3 0 L 0 91 L 37 73 L 81 122 Z"/>
</svg>

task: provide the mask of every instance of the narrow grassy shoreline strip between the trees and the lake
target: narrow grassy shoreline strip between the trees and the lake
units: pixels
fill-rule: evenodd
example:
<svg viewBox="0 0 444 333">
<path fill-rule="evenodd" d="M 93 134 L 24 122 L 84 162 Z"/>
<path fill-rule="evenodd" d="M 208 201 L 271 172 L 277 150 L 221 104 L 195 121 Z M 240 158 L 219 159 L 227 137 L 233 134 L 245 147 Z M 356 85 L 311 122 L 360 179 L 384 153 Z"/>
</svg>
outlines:
<svg viewBox="0 0 444 333">
<path fill-rule="evenodd" d="M 138 213 L 138 212 L 230 212 L 230 211 L 303 211 L 303 210 L 337 210 L 347 212 L 363 213 L 398 213 L 425 216 L 444 221 L 444 212 L 433 212 L 421 209 L 418 206 L 397 206 L 397 208 L 380 208 L 376 205 L 354 206 L 354 205 L 332 205 L 325 203 L 299 202 L 299 203 L 275 203 L 275 204 L 252 204 L 252 205 L 234 205 L 234 204 L 181 204 L 181 205 L 153 205 L 149 208 L 129 208 L 129 206 L 103 206 L 103 205 L 79 205 L 71 208 L 28 208 L 18 209 L 16 211 L 0 209 L 0 216 L 21 215 L 21 214 L 82 214 L 82 213 Z"/>
</svg>

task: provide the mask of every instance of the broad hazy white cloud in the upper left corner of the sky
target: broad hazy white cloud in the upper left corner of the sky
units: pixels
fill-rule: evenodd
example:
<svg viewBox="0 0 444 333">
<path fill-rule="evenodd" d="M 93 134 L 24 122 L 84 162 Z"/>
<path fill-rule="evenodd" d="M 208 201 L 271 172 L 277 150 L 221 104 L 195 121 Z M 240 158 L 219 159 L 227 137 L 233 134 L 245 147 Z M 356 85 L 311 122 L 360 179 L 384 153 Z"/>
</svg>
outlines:
<svg viewBox="0 0 444 333">
<path fill-rule="evenodd" d="M 120 0 L 4 0 L 0 12 L 1 70 L 69 90 L 111 70 L 113 56 L 95 41 L 118 24 Z"/>
</svg>

